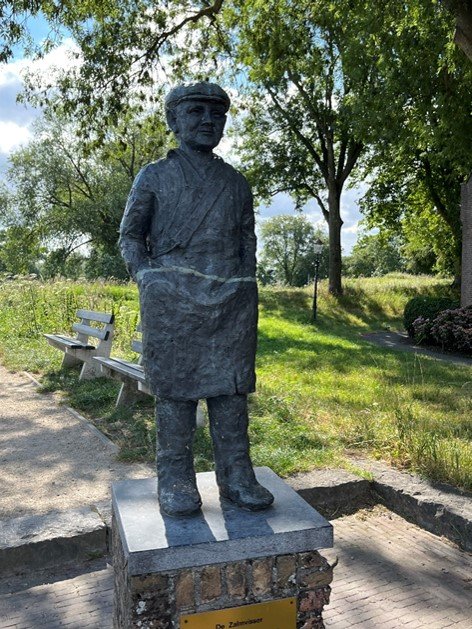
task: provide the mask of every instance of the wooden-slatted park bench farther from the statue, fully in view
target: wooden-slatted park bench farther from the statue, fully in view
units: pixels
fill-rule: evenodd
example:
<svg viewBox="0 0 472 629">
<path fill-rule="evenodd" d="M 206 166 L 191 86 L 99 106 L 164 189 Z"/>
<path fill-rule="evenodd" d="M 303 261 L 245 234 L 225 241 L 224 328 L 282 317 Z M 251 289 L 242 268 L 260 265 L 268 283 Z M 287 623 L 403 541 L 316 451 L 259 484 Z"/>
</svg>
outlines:
<svg viewBox="0 0 472 629">
<path fill-rule="evenodd" d="M 64 352 L 63 367 L 83 363 L 79 380 L 97 378 L 101 375 L 100 365 L 94 362 L 97 356 L 110 355 L 113 341 L 114 315 L 93 310 L 77 310 L 80 323 L 74 323 L 72 329 L 75 338 L 61 334 L 45 334 L 48 343 Z M 91 324 L 102 324 L 93 326 Z M 92 339 L 92 341 L 91 341 Z"/>
</svg>

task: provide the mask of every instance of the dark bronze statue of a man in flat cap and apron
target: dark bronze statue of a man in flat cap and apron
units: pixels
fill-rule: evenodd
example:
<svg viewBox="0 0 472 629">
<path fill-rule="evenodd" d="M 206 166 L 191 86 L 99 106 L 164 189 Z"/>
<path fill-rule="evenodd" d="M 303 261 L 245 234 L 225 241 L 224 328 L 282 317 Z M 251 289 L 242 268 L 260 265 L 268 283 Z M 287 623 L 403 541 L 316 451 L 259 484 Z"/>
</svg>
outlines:
<svg viewBox="0 0 472 629">
<path fill-rule="evenodd" d="M 201 507 L 192 453 L 199 399 L 207 401 L 221 496 L 250 510 L 273 502 L 255 478 L 247 436 L 257 343 L 252 195 L 213 154 L 229 105 L 227 93 L 207 82 L 168 94 L 179 148 L 142 169 L 121 223 L 156 395 L 159 502 L 173 516 Z"/>
</svg>

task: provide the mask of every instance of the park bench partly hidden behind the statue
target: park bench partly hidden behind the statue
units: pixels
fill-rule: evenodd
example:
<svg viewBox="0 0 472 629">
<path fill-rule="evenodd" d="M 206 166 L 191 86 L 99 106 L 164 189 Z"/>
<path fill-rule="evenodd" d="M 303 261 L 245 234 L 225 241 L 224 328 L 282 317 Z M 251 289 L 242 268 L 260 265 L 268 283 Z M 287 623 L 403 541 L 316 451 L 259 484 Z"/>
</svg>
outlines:
<svg viewBox="0 0 472 629">
<path fill-rule="evenodd" d="M 138 325 L 137 332 L 141 332 Z M 102 375 L 121 382 L 120 392 L 115 406 L 131 406 L 145 395 L 153 395 L 146 383 L 144 367 L 142 366 L 143 342 L 135 339 L 131 342 L 131 349 L 138 355 L 137 361 L 132 362 L 113 356 L 95 356 L 94 361 L 100 365 Z M 205 424 L 205 416 L 199 403 L 197 408 L 197 425 Z"/>
</svg>

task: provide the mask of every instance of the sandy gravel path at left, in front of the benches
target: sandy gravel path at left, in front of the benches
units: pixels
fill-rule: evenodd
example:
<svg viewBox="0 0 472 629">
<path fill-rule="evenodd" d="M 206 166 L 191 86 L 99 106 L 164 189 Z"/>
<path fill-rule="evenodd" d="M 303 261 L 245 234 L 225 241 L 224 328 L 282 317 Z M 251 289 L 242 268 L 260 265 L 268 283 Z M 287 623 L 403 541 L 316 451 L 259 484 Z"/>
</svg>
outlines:
<svg viewBox="0 0 472 629">
<path fill-rule="evenodd" d="M 0 366 L 0 520 L 105 500 L 112 481 L 145 478 L 150 467 L 116 461 L 116 448 L 89 424 Z"/>
</svg>

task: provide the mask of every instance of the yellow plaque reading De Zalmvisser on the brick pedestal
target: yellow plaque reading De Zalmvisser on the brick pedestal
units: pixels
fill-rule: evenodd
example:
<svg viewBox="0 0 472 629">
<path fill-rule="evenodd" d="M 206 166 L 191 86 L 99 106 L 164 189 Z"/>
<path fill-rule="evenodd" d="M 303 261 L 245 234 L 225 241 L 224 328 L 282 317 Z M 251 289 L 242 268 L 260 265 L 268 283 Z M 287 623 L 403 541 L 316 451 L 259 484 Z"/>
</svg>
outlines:
<svg viewBox="0 0 472 629">
<path fill-rule="evenodd" d="M 180 629 L 295 629 L 295 598 L 180 617 Z"/>
</svg>

